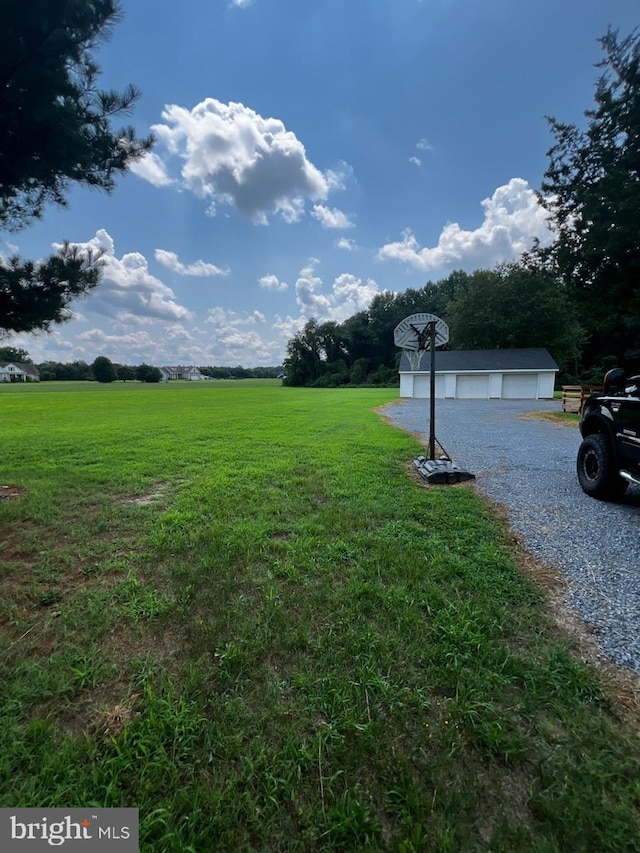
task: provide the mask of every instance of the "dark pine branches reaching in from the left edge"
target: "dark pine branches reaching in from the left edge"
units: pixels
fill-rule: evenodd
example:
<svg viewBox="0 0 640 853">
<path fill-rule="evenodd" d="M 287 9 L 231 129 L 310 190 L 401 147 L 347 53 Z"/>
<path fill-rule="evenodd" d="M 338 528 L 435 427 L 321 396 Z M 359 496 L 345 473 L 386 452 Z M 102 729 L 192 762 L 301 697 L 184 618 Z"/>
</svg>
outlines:
<svg viewBox="0 0 640 853">
<path fill-rule="evenodd" d="M 152 144 L 112 121 L 139 96 L 97 87 L 93 52 L 118 20 L 115 0 L 5 3 L 0 28 L 0 228 L 19 230 L 80 184 L 110 192 Z M 0 263 L 0 335 L 67 319 L 99 281 L 96 257 L 65 246 L 48 260 Z"/>
</svg>

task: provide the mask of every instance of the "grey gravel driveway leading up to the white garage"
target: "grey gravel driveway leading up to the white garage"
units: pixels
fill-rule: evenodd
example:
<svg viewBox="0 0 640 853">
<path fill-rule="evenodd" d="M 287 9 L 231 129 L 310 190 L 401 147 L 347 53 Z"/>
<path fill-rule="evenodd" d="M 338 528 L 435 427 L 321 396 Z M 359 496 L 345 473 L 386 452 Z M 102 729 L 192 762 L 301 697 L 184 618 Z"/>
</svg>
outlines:
<svg viewBox="0 0 640 853">
<path fill-rule="evenodd" d="M 438 400 L 436 437 L 505 507 L 525 548 L 562 572 L 566 603 L 611 659 L 640 673 L 640 487 L 619 503 L 587 497 L 575 473 L 577 427 L 535 417 L 560 410 L 558 401 Z M 384 414 L 426 444 L 428 400 L 392 403 Z"/>
</svg>

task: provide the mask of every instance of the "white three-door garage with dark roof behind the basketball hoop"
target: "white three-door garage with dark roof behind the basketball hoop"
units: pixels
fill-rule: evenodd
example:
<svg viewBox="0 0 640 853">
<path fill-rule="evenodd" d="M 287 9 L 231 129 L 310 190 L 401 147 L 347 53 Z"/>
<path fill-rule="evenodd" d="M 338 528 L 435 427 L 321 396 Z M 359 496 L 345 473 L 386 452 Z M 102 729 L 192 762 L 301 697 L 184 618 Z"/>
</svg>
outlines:
<svg viewBox="0 0 640 853">
<path fill-rule="evenodd" d="M 436 397 L 458 400 L 553 398 L 558 365 L 546 349 L 436 350 Z M 429 397 L 431 355 L 417 370 L 403 352 L 400 396 Z"/>
</svg>

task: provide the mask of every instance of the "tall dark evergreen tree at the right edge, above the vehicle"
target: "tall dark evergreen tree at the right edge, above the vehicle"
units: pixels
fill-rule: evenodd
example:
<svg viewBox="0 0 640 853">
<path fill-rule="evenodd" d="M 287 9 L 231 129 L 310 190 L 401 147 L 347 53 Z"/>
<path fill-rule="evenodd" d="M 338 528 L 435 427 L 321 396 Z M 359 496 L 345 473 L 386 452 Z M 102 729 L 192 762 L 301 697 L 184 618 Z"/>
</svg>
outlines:
<svg viewBox="0 0 640 853">
<path fill-rule="evenodd" d="M 640 357 L 640 35 L 609 30 L 600 43 L 586 129 L 549 119 L 555 144 L 540 195 L 557 234 L 546 254 L 589 335 L 587 366 Z"/>
</svg>

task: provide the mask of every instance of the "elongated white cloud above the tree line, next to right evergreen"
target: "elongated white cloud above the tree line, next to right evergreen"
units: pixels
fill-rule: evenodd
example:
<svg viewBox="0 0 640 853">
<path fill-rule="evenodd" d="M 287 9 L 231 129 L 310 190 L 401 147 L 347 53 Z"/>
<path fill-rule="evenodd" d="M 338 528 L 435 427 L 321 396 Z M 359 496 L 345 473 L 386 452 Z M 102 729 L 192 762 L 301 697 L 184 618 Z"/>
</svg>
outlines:
<svg viewBox="0 0 640 853">
<path fill-rule="evenodd" d="M 429 271 L 446 267 L 477 269 L 513 260 L 531 248 L 538 237 L 543 245 L 551 241 L 546 224 L 548 213 L 540 207 L 535 192 L 522 178 L 512 178 L 482 202 L 484 221 L 474 231 L 463 230 L 457 222 L 442 229 L 438 245 L 421 248 L 407 229 L 402 240 L 387 243 L 378 251 L 382 260 L 396 260 Z"/>
</svg>

